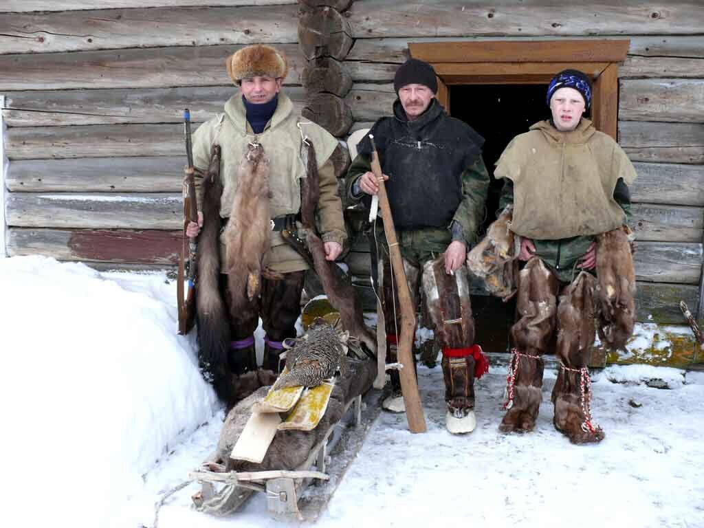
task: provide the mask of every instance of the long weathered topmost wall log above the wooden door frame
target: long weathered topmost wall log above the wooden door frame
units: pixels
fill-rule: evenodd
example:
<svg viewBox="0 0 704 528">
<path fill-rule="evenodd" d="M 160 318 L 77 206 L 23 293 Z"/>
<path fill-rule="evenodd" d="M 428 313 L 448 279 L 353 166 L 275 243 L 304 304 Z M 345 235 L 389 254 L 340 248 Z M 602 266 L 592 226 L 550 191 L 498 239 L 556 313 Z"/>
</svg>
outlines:
<svg viewBox="0 0 704 528">
<path fill-rule="evenodd" d="M 355 38 L 472 35 L 628 35 L 700 34 L 704 10 L 691 1 L 669 1 L 653 8 L 637 0 L 555 4 L 526 0 L 468 3 L 389 2 L 352 4 Z"/>
</svg>

